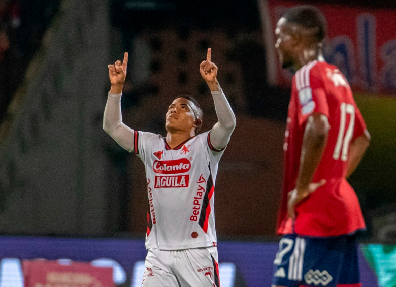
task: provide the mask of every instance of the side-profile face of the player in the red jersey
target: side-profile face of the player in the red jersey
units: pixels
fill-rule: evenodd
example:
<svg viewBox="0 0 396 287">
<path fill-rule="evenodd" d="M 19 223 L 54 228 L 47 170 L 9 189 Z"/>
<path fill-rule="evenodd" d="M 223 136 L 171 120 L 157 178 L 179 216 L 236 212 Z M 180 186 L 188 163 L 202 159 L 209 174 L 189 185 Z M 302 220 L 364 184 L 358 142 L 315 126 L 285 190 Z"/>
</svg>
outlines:
<svg viewBox="0 0 396 287">
<path fill-rule="evenodd" d="M 292 57 L 292 36 L 290 30 L 287 27 L 286 19 L 280 18 L 276 24 L 275 29 L 276 44 L 275 48 L 278 51 L 279 61 L 283 69 L 290 68 L 293 66 Z"/>
</svg>

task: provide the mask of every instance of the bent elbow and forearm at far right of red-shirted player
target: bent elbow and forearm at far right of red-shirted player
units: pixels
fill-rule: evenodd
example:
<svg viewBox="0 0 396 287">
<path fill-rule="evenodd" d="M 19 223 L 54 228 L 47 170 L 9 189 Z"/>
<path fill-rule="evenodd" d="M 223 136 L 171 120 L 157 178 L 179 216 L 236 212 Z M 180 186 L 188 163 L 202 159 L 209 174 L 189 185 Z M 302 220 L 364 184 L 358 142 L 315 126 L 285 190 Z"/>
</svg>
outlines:
<svg viewBox="0 0 396 287">
<path fill-rule="evenodd" d="M 366 149 L 369 147 L 371 136 L 367 130 L 356 138 L 349 146 L 348 167 L 345 178 L 348 178 L 357 168 Z"/>
</svg>

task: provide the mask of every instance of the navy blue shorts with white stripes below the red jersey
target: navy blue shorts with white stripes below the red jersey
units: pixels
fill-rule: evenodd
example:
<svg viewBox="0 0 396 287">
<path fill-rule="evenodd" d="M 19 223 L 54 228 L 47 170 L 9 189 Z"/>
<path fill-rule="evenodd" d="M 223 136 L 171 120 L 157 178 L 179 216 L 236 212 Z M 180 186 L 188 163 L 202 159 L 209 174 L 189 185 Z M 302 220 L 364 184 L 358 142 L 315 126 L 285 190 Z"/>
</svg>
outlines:
<svg viewBox="0 0 396 287">
<path fill-rule="evenodd" d="M 272 284 L 285 287 L 359 287 L 355 235 L 314 238 L 285 235 L 279 241 Z"/>
</svg>

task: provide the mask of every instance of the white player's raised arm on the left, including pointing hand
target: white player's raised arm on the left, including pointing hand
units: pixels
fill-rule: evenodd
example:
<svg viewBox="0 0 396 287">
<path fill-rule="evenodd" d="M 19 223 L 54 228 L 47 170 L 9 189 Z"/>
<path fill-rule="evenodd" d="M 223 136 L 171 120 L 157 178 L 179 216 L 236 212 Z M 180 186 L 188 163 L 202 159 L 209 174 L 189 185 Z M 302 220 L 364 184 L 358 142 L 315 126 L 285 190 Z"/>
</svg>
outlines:
<svg viewBox="0 0 396 287">
<path fill-rule="evenodd" d="M 124 60 L 116 61 L 114 65 L 109 65 L 109 77 L 111 89 L 107 98 L 105 113 L 103 115 L 103 129 L 122 148 L 129 152 L 134 151 L 134 130 L 130 129 L 122 122 L 121 115 L 121 94 L 122 85 L 126 77 L 126 67 L 128 63 L 128 53 L 125 52 Z"/>
</svg>

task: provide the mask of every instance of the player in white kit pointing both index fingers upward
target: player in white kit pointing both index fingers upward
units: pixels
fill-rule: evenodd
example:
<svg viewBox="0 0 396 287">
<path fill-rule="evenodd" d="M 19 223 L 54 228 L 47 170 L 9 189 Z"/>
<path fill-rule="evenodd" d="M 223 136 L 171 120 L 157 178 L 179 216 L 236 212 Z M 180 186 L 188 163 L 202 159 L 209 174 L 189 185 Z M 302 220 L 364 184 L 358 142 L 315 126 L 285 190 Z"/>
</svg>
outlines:
<svg viewBox="0 0 396 287">
<path fill-rule="evenodd" d="M 148 227 L 144 287 L 220 287 L 214 186 L 219 160 L 235 129 L 235 116 L 217 81 L 211 49 L 200 65 L 218 122 L 198 134 L 202 110 L 188 95 L 176 98 L 166 113 L 166 137 L 134 131 L 122 123 L 121 94 L 128 54 L 109 65 L 111 89 L 103 128 L 146 167 Z"/>
</svg>

